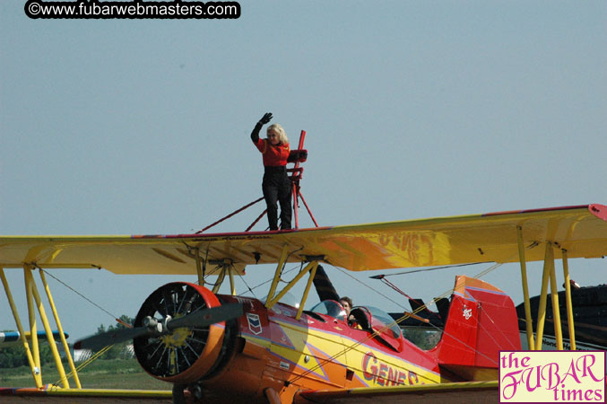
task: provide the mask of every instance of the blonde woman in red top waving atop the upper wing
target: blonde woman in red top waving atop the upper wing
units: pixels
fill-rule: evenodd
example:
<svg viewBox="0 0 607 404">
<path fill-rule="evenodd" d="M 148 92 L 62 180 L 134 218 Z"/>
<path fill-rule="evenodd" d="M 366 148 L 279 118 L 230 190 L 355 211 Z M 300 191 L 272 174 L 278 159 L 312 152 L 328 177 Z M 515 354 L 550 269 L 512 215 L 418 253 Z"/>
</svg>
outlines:
<svg viewBox="0 0 607 404">
<path fill-rule="evenodd" d="M 279 124 L 270 125 L 267 129 L 267 138 L 260 139 L 259 131 L 272 120 L 272 113 L 264 114 L 259 119 L 253 132 L 251 140 L 257 149 L 264 155 L 264 190 L 265 204 L 268 208 L 268 222 L 270 230 L 278 230 L 278 206 L 281 204 L 281 230 L 290 229 L 290 194 L 291 182 L 287 176 L 287 160 L 289 159 L 290 147 L 287 134 Z"/>
</svg>

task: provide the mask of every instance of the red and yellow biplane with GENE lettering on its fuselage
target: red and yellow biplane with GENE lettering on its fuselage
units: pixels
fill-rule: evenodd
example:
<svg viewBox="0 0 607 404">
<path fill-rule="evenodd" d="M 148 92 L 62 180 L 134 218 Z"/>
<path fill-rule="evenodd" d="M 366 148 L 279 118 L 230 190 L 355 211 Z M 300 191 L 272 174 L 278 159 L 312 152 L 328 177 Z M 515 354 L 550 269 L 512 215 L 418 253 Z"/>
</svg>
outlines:
<svg viewBox="0 0 607 404">
<path fill-rule="evenodd" d="M 403 338 L 399 327 L 404 319 L 427 320 L 415 312 L 403 312 L 395 320 L 363 303 L 346 316 L 338 294 L 321 287 L 317 292 L 325 298 L 305 310 L 323 265 L 363 271 L 520 262 L 526 338 L 529 347 L 539 349 L 549 284 L 552 307 L 559 307 L 555 259 L 562 260 L 568 285 L 568 259 L 605 255 L 607 206 L 594 204 L 274 232 L 2 236 L 0 275 L 21 332 L 4 277 L 7 268 L 25 272 L 32 327 L 33 300 L 41 305 L 33 273 L 40 268 L 197 276 L 197 283 L 176 281 L 152 292 L 133 329 L 80 341 L 82 347 L 100 347 L 133 339 L 143 369 L 172 383 L 176 402 L 184 397 L 218 402 L 395 402 L 417 386 L 449 383 L 456 389 L 497 380 L 499 350 L 521 346 L 514 303 L 493 285 L 456 277 L 446 310 L 441 311 L 442 337 L 435 347 L 421 349 Z M 526 262 L 532 260 L 544 261 L 535 330 L 526 274 Z M 286 263 L 299 264 L 299 272 L 282 282 Z M 259 264 L 276 266 L 267 295 L 236 295 L 235 277 Z M 39 275 L 48 291 L 44 271 Z M 206 287 L 210 276 L 216 280 Z M 219 294 L 228 282 L 230 294 Z M 283 303 L 299 283 L 305 286 L 298 302 Z M 568 288 L 565 295 L 570 307 Z M 553 314 L 559 340 L 559 311 Z M 43 310 L 40 317 L 49 330 Z M 569 336 L 575 338 L 573 326 L 571 317 Z M 58 329 L 61 336 L 59 323 Z M 48 339 L 52 341 L 52 335 Z M 24 347 L 33 368 L 35 355 L 26 341 Z M 39 374 L 34 377 L 41 388 Z M 69 388 L 65 374 L 63 383 Z"/>
</svg>

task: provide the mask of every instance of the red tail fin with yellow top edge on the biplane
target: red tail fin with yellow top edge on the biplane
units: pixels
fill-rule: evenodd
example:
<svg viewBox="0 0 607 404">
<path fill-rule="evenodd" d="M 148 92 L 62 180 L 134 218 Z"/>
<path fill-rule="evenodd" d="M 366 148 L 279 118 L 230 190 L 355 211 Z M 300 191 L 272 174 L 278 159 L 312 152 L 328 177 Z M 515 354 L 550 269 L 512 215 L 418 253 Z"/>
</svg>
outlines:
<svg viewBox="0 0 607 404">
<path fill-rule="evenodd" d="M 464 380 L 498 379 L 499 350 L 518 350 L 516 308 L 497 287 L 455 277 L 438 364 Z"/>
</svg>

